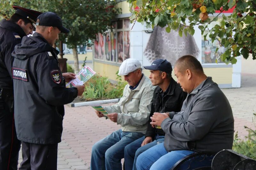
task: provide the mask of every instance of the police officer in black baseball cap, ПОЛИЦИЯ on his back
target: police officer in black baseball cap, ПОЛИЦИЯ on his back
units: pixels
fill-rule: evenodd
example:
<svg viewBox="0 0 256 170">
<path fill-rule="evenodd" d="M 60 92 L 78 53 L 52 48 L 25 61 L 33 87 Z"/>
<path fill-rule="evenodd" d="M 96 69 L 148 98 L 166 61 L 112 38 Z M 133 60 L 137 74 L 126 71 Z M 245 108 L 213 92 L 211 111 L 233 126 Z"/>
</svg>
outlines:
<svg viewBox="0 0 256 170">
<path fill-rule="evenodd" d="M 57 169 L 64 104 L 82 95 L 84 85 L 66 88 L 74 73 L 61 73 L 52 45 L 59 33 L 68 33 L 61 18 L 45 12 L 36 20 L 33 36 L 23 37 L 12 53 L 14 62 L 14 119 L 22 144 L 20 170 Z"/>
</svg>

